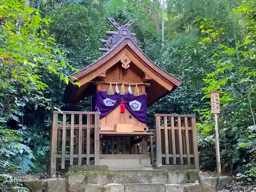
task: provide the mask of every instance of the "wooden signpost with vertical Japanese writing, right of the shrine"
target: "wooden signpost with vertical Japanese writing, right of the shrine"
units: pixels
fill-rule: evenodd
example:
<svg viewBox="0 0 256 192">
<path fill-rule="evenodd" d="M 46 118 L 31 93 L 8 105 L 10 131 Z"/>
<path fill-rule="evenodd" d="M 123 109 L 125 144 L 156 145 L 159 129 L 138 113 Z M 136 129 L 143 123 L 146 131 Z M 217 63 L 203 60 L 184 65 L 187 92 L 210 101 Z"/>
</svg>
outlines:
<svg viewBox="0 0 256 192">
<path fill-rule="evenodd" d="M 215 146 L 216 146 L 216 160 L 217 160 L 217 175 L 221 176 L 221 158 L 220 158 L 220 145 L 219 145 L 219 132 L 218 132 L 218 116 L 220 114 L 220 93 L 217 91 L 210 92 L 211 113 L 215 116 Z"/>
</svg>

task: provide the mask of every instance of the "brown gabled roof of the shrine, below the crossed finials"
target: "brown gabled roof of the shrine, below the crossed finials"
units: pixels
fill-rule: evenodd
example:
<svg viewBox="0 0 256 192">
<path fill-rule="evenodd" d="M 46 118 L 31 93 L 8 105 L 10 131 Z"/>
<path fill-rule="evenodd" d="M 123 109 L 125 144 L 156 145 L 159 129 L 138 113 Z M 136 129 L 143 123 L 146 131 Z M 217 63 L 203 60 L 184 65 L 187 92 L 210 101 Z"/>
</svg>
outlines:
<svg viewBox="0 0 256 192">
<path fill-rule="evenodd" d="M 87 66 L 86 68 L 80 70 L 79 72 L 71 75 L 76 79 L 75 81 L 81 82 L 81 87 L 82 86 L 84 87 L 83 88 L 84 91 L 83 92 L 78 91 L 77 86 L 73 86 L 72 84 L 69 84 L 66 89 L 64 102 L 76 103 L 82 98 L 92 95 L 96 89 L 96 88 L 92 89 L 92 86 L 94 84 L 92 83 L 92 81 L 99 75 L 99 74 L 96 74 L 96 72 L 99 69 L 103 68 L 103 66 L 105 66 L 107 62 L 111 60 L 118 60 L 116 59 L 116 57 L 118 57 L 118 55 L 120 57 L 120 53 L 124 50 L 126 50 L 126 52 L 129 52 L 130 56 L 131 55 L 134 56 L 134 60 L 131 59 L 133 64 L 136 65 L 135 60 L 141 63 L 140 64 L 141 67 L 137 66 L 138 69 L 140 69 L 141 71 L 143 71 L 144 69 L 144 70 L 147 70 L 147 73 L 150 73 L 148 75 L 150 75 L 150 77 L 152 78 L 152 80 L 150 80 L 152 82 L 152 86 L 150 86 L 150 88 L 148 89 L 148 92 L 150 93 L 147 93 L 147 94 L 148 94 L 148 97 L 152 97 L 152 98 L 148 99 L 148 105 L 156 102 L 157 100 L 159 100 L 160 98 L 168 94 L 170 91 L 173 91 L 174 89 L 182 85 L 182 81 L 180 81 L 178 78 L 174 77 L 173 75 L 168 74 L 166 71 L 164 71 L 160 67 L 156 66 L 155 63 L 150 58 L 148 58 L 140 50 L 140 48 L 137 45 L 134 44 L 132 39 L 130 39 L 129 37 L 125 37 L 120 39 L 111 49 L 109 49 L 98 60 L 92 63 L 92 65 Z M 117 63 L 117 61 L 115 63 Z M 114 66 L 115 63 L 112 64 L 112 66 Z M 104 69 L 109 69 L 109 68 L 104 67 Z M 88 89 L 89 87 L 90 89 Z M 76 92 L 80 92 L 80 93 L 76 94 Z M 77 97 L 75 97 L 74 94 L 76 94 Z M 78 95 L 80 96 L 78 97 Z"/>
</svg>

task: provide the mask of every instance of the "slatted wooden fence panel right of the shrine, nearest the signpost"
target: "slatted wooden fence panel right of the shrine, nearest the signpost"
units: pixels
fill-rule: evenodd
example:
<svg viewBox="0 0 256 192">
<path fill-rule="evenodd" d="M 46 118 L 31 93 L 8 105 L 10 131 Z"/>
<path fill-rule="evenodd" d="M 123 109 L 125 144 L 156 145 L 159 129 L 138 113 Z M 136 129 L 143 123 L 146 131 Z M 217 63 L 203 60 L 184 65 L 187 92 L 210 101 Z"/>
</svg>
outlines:
<svg viewBox="0 0 256 192">
<path fill-rule="evenodd" d="M 199 169 L 196 116 L 156 114 L 156 164 Z"/>
</svg>

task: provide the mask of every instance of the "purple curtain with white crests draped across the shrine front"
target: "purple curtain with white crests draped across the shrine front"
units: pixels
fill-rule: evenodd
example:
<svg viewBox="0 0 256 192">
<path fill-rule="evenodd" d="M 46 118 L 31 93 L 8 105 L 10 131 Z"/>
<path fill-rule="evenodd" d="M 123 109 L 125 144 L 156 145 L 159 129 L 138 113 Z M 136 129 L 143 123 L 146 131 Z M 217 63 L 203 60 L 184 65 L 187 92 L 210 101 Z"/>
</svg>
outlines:
<svg viewBox="0 0 256 192">
<path fill-rule="evenodd" d="M 96 91 L 92 99 L 93 111 L 100 112 L 100 119 L 111 113 L 120 104 L 122 95 L 114 94 L 108 95 L 105 91 Z M 136 119 L 146 124 L 146 94 L 141 96 L 134 96 L 132 94 L 123 95 L 125 101 L 125 108 Z"/>
</svg>

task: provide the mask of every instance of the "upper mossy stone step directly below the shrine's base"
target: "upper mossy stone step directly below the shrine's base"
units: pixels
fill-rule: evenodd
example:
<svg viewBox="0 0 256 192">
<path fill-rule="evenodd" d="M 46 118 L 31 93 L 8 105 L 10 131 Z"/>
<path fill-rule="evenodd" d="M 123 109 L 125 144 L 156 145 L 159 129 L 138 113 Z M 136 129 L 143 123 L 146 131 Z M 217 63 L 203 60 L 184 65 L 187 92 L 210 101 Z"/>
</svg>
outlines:
<svg viewBox="0 0 256 192">
<path fill-rule="evenodd" d="M 110 170 L 83 170 L 83 172 L 70 172 L 67 174 L 69 185 L 109 183 L 135 184 L 135 183 L 164 183 L 187 184 L 199 180 L 197 170 L 165 171 L 163 169 L 140 168 Z"/>
</svg>

